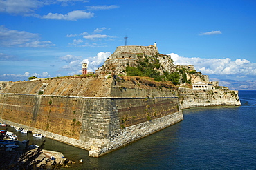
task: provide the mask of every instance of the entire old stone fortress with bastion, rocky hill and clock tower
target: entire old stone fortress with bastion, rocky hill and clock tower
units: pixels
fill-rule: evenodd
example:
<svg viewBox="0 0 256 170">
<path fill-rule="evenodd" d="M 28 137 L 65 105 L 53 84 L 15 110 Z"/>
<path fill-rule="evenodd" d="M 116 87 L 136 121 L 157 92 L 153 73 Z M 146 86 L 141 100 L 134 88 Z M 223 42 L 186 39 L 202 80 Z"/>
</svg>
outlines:
<svg viewBox="0 0 256 170">
<path fill-rule="evenodd" d="M 143 65 L 167 81 L 129 76 L 141 74 Z M 174 65 L 156 43 L 117 47 L 95 74 L 87 67 L 82 64 L 80 76 L 0 82 L 0 121 L 99 157 L 179 123 L 182 109 L 241 105 L 237 91 L 210 82 L 192 65 Z M 170 83 L 175 75 L 179 86 Z"/>
</svg>

